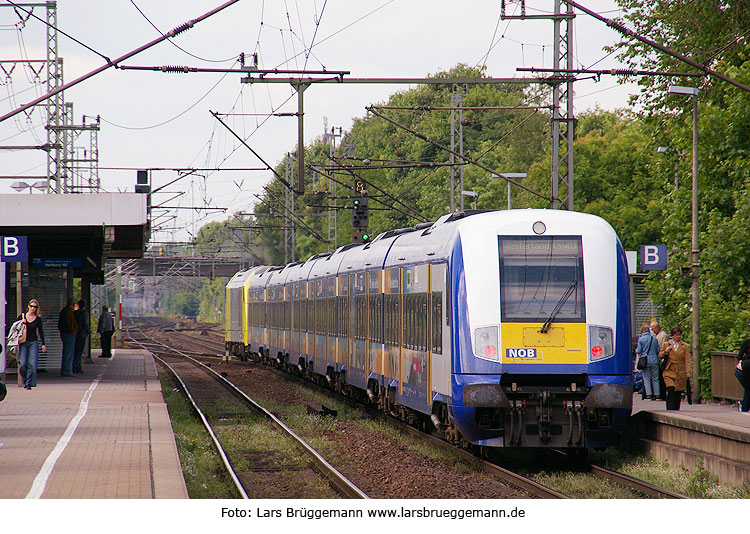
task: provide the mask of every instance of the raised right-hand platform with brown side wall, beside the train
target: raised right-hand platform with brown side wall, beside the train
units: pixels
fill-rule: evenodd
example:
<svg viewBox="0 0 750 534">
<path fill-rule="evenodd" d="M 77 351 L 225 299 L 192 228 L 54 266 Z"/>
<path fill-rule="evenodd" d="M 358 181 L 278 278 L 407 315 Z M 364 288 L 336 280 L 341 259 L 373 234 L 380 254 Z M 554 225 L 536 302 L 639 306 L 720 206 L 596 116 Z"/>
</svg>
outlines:
<svg viewBox="0 0 750 534">
<path fill-rule="evenodd" d="M 690 471 L 703 467 L 721 484 L 750 482 L 750 414 L 736 404 L 705 402 L 667 410 L 662 400 L 633 395 L 633 422 L 648 452 Z"/>
</svg>

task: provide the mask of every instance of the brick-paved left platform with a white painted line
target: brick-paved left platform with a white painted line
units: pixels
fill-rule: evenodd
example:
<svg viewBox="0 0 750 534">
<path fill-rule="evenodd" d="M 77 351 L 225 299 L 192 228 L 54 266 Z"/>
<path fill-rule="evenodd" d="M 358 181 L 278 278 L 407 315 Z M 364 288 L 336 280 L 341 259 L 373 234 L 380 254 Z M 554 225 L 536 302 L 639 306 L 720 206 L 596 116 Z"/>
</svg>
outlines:
<svg viewBox="0 0 750 534">
<path fill-rule="evenodd" d="M 83 375 L 7 376 L 0 498 L 187 499 L 167 406 L 148 352 L 117 349 Z"/>
</svg>

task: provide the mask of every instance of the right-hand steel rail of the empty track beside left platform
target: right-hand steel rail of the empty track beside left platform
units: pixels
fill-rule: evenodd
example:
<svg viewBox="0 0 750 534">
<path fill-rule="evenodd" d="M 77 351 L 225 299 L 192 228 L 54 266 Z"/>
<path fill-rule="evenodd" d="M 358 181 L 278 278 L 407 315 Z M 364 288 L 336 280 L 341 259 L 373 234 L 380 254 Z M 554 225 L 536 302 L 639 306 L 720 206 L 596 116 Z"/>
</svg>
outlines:
<svg viewBox="0 0 750 534">
<path fill-rule="evenodd" d="M 158 342 L 157 342 L 158 343 Z M 188 356 L 187 354 L 173 348 L 169 347 L 168 345 L 165 345 L 163 343 L 160 343 L 164 348 L 174 352 L 175 354 L 185 358 L 186 360 L 189 360 L 191 363 L 197 365 L 207 373 L 209 373 L 212 377 L 214 377 L 216 380 L 218 380 L 223 386 L 225 386 L 227 389 L 229 389 L 230 392 L 235 394 L 237 397 L 245 401 L 247 404 L 249 404 L 251 407 L 253 407 L 255 410 L 263 414 L 267 419 L 271 421 L 271 423 L 276 426 L 278 429 L 280 429 L 285 435 L 292 438 L 297 445 L 299 445 L 300 448 L 312 459 L 315 466 L 318 468 L 318 470 L 334 485 L 334 487 L 340 491 L 343 495 L 350 499 L 369 499 L 369 497 L 357 486 L 354 485 L 349 479 L 347 479 L 342 473 L 340 473 L 335 467 L 333 467 L 323 456 L 316 451 L 314 448 L 312 448 L 305 440 L 303 440 L 300 436 L 298 436 L 291 428 L 289 428 L 281 419 L 276 417 L 273 413 L 271 413 L 269 410 L 267 410 L 265 407 L 260 405 L 258 402 L 256 402 L 254 399 L 252 399 L 250 396 L 248 396 L 244 391 L 239 389 L 237 386 L 235 386 L 232 382 L 221 376 L 219 373 L 208 367 L 207 365 L 203 364 L 202 362 L 196 360 L 195 358 Z M 158 356 L 154 356 L 157 357 Z"/>
</svg>

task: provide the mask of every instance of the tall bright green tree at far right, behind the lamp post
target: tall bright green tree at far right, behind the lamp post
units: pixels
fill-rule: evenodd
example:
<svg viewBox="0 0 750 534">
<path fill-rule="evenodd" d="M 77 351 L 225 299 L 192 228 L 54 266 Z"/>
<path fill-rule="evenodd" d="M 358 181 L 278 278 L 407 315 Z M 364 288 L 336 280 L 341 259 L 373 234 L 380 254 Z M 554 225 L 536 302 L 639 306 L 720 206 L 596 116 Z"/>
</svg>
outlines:
<svg viewBox="0 0 750 534">
<path fill-rule="evenodd" d="M 637 33 L 685 53 L 744 84 L 750 83 L 750 5 L 746 1 L 643 2 L 619 0 L 624 18 Z M 693 69 L 635 41 L 624 41 L 620 53 L 641 69 L 685 72 Z M 663 205 L 664 242 L 672 250 L 691 248 L 692 99 L 670 95 L 668 85 L 699 88 L 699 243 L 701 379 L 703 395 L 710 385 L 709 353 L 736 351 L 747 337 L 750 319 L 750 93 L 715 77 L 643 77 L 635 99 L 643 106 L 640 121 L 653 139 L 669 147 L 672 181 Z M 658 164 L 657 164 L 658 165 Z M 667 168 L 662 166 L 662 171 Z M 666 192 L 666 191 L 665 191 Z M 670 262 L 688 262 L 685 253 Z M 679 324 L 690 340 L 690 279 L 679 270 L 649 276 L 648 287 L 662 307 L 664 322 Z"/>
</svg>

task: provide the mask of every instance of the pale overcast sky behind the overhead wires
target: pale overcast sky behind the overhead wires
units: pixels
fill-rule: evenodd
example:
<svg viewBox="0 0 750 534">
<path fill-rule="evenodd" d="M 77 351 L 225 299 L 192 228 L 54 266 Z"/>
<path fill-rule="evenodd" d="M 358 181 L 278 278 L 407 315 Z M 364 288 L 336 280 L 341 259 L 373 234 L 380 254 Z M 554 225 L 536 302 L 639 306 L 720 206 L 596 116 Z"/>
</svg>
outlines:
<svg viewBox="0 0 750 534">
<path fill-rule="evenodd" d="M 152 41 L 180 24 L 221 5 L 221 0 L 61 0 L 58 27 L 81 44 L 59 35 L 65 81 L 71 81 Z M 45 75 L 34 84 L 29 65 L 2 60 L 43 59 L 45 26 L 33 18 L 22 22 L 6 0 L 0 0 L 0 114 L 45 92 Z M 507 0 L 509 12 L 519 4 Z M 613 0 L 582 4 L 609 18 L 619 15 Z M 459 7 L 460 6 L 460 7 Z M 527 0 L 527 14 L 549 13 L 553 0 Z M 43 8 L 34 14 L 45 18 Z M 158 31 L 156 28 L 158 28 Z M 619 67 L 603 47 L 619 40 L 603 23 L 580 13 L 575 21 L 576 66 Z M 458 63 L 486 65 L 495 77 L 531 76 L 517 67 L 552 67 L 553 25 L 549 20 L 500 20 L 499 0 L 240 0 L 170 42 L 163 42 L 126 65 L 236 67 L 241 52 L 257 53 L 262 69 L 327 69 L 352 77 L 424 77 Z M 309 47 L 312 43 L 312 52 Z M 179 47 L 179 48 L 178 48 Z M 93 51 L 92 51 L 93 50 Z M 101 55 L 97 55 L 101 54 Z M 35 67 L 38 70 L 38 65 Z M 163 74 L 109 69 L 66 91 L 74 118 L 101 117 L 99 166 L 102 188 L 132 191 L 136 168 L 255 168 L 262 163 L 209 111 L 231 114 L 224 120 L 271 165 L 294 149 L 296 95 L 288 85 L 240 83 L 239 74 Z M 351 127 L 366 114 L 365 106 L 384 102 L 407 86 L 318 84 L 305 92 L 305 142 L 320 137 L 324 118 L 330 127 Z M 611 76 L 580 81 L 575 108 L 580 113 L 599 105 L 627 107 L 632 86 L 618 86 Z M 0 123 L 0 146 L 46 142 L 41 107 Z M 87 118 L 87 123 L 92 121 Z M 89 145 L 88 134 L 77 144 Z M 82 155 L 82 154 L 81 154 Z M 0 175 L 36 177 L 46 173 L 42 151 L 0 150 Z M 154 171 L 154 187 L 178 174 Z M 155 196 L 154 204 L 226 208 L 196 212 L 173 210 L 177 218 L 160 217 L 153 241 L 185 241 L 202 224 L 251 211 L 254 194 L 271 178 L 270 171 L 213 171 L 183 178 Z M 28 181 L 33 182 L 33 179 Z M 0 193 L 14 193 L 12 180 L 0 180 Z M 162 212 L 156 212 L 155 215 Z"/>
</svg>

